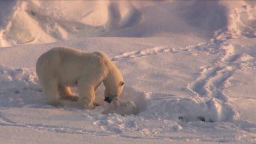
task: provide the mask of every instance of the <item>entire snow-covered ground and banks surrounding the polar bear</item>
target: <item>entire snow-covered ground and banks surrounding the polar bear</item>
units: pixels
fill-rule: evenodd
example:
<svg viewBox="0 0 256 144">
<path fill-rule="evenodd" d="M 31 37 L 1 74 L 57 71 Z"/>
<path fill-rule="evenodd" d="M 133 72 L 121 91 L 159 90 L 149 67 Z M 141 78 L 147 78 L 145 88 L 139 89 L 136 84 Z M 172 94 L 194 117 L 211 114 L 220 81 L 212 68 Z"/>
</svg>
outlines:
<svg viewBox="0 0 256 144">
<path fill-rule="evenodd" d="M 0 1 L 0 141 L 255 144 L 255 17 L 255 1 Z M 35 63 L 55 46 L 108 54 L 120 98 L 46 105 Z"/>
</svg>

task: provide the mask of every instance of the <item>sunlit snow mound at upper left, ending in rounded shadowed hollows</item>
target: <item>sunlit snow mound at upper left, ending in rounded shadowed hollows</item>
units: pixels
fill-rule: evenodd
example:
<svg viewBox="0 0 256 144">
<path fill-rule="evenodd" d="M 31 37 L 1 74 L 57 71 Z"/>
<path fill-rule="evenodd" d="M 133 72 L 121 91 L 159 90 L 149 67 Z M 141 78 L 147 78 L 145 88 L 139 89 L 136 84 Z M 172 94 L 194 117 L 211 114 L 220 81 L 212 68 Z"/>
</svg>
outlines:
<svg viewBox="0 0 256 144">
<path fill-rule="evenodd" d="M 121 17 L 118 4 L 110 3 L 107 9 L 108 3 L 2 1 L 0 16 L 4 21 L 0 22 L 0 46 L 104 36 L 113 30 L 131 27 L 140 22 L 142 14 L 135 8 L 131 8 Z M 75 7 L 70 7 L 70 4 Z M 97 20 L 94 15 L 98 16 Z M 99 22 L 99 19 L 103 21 Z"/>
</svg>

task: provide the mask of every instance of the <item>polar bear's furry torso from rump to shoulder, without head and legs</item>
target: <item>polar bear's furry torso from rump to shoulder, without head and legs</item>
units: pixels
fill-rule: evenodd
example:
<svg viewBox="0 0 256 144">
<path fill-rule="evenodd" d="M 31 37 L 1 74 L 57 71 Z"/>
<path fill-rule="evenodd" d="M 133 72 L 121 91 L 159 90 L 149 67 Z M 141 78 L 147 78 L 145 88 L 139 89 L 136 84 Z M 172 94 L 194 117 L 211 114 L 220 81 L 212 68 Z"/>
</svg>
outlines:
<svg viewBox="0 0 256 144">
<path fill-rule="evenodd" d="M 82 75 L 105 75 L 110 63 L 111 60 L 103 52 L 56 47 L 38 58 L 36 72 L 41 80 L 58 78 L 60 83 L 70 85 Z"/>
</svg>

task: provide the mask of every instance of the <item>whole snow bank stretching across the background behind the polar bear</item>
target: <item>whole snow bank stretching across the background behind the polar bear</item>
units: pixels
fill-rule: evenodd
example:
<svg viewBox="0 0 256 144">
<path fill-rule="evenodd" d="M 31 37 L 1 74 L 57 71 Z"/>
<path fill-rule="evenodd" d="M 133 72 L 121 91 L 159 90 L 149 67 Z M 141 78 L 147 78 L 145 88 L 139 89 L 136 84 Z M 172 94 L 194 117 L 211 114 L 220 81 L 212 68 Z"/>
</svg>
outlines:
<svg viewBox="0 0 256 144">
<path fill-rule="evenodd" d="M 254 4 L 244 1 L 2 1 L 0 46 L 81 37 L 255 37 Z M 73 5 L 73 7 L 70 7 Z M 159 18 L 161 15 L 161 18 Z M 175 19 L 175 21 L 174 21 Z"/>
</svg>

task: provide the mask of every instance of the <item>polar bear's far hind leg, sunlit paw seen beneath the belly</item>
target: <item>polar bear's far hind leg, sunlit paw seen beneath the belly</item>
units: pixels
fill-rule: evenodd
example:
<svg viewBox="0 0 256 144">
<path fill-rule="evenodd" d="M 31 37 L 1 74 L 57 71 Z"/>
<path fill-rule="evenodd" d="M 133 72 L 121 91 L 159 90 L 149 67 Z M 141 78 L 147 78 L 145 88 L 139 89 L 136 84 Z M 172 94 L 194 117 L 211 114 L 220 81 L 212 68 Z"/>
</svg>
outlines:
<svg viewBox="0 0 256 144">
<path fill-rule="evenodd" d="M 58 93 L 60 95 L 60 98 L 65 100 L 71 100 L 74 102 L 77 102 L 79 100 L 79 97 L 72 94 L 70 87 L 68 86 L 58 86 Z"/>
</svg>

